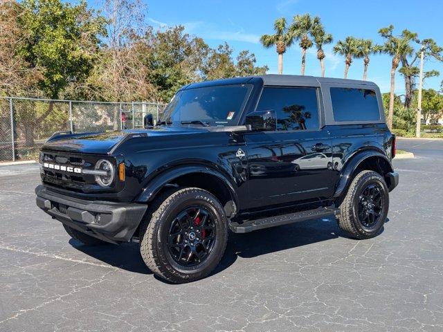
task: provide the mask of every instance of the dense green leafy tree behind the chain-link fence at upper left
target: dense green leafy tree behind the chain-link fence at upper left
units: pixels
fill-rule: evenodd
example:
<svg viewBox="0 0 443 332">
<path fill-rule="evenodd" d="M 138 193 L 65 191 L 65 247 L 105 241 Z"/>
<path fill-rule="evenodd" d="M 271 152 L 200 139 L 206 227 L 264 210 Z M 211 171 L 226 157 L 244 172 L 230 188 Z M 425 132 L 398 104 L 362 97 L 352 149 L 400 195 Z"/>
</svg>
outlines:
<svg viewBox="0 0 443 332">
<path fill-rule="evenodd" d="M 39 88 L 56 99 L 74 81 L 84 80 L 93 67 L 105 21 L 87 8 L 61 0 L 24 0 L 19 24 L 28 34 L 19 52 L 33 68 L 41 68 Z"/>
</svg>

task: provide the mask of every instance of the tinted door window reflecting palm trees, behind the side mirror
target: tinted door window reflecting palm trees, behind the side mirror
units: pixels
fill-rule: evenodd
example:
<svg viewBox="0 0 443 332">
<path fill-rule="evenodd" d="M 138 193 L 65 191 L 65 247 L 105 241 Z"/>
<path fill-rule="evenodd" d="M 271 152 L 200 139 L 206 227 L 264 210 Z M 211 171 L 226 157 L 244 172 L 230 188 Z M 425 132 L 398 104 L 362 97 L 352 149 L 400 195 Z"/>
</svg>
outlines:
<svg viewBox="0 0 443 332">
<path fill-rule="evenodd" d="M 318 129 L 315 88 L 264 88 L 257 111 L 273 109 L 277 130 Z"/>
</svg>

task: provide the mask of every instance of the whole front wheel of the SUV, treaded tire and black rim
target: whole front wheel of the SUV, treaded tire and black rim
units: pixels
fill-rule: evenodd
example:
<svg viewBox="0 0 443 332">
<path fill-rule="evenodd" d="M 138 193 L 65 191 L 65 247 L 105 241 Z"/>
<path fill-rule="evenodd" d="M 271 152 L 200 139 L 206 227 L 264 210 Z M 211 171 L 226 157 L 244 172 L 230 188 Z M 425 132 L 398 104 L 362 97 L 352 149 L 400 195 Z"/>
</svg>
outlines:
<svg viewBox="0 0 443 332">
<path fill-rule="evenodd" d="M 142 222 L 143 261 L 174 283 L 206 277 L 219 264 L 228 239 L 221 203 L 206 190 L 184 188 L 160 196 Z"/>
</svg>

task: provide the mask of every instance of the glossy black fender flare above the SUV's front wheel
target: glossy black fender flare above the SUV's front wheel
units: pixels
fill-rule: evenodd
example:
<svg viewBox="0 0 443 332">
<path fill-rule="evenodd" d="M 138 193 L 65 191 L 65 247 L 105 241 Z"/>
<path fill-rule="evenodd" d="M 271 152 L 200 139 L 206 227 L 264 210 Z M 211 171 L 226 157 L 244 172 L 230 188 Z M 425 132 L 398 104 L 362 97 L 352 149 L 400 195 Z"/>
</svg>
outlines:
<svg viewBox="0 0 443 332">
<path fill-rule="evenodd" d="M 145 185 L 141 194 L 138 195 L 136 201 L 140 203 L 150 202 L 152 199 L 154 199 L 156 194 L 158 194 L 159 191 L 165 187 L 165 185 L 168 185 L 168 183 L 174 181 L 174 179 L 179 178 L 180 176 L 192 173 L 208 174 L 219 178 L 219 180 L 226 185 L 226 188 L 228 189 L 235 205 L 238 206 L 237 194 L 229 179 L 221 172 L 204 165 L 186 165 L 165 170 L 158 176 L 154 177 L 152 181 L 147 183 L 147 185 Z"/>
</svg>

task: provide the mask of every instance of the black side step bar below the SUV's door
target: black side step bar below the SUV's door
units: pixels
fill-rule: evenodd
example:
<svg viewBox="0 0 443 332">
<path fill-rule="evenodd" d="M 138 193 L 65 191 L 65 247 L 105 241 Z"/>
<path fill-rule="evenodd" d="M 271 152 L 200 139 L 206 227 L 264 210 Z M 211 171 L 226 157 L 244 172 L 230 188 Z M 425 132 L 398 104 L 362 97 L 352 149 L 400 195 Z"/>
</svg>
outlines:
<svg viewBox="0 0 443 332">
<path fill-rule="evenodd" d="M 335 208 L 332 206 L 328 208 L 317 208 L 315 210 L 292 212 L 288 214 L 280 214 L 278 216 L 246 220 L 243 222 L 234 221 L 229 224 L 229 228 L 235 233 L 248 233 L 253 230 L 262 230 L 263 228 L 286 225 L 287 223 L 296 223 L 297 221 L 333 216 L 334 211 Z"/>
</svg>

